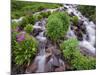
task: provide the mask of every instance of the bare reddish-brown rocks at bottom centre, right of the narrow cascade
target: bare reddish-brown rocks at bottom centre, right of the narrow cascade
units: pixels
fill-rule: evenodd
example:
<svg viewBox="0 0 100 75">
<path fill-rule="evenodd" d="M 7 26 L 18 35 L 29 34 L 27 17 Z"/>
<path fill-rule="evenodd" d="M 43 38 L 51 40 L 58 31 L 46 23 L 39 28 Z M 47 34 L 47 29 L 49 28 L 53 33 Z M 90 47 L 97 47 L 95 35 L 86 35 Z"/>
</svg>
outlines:
<svg viewBox="0 0 100 75">
<path fill-rule="evenodd" d="M 52 55 L 46 62 L 45 71 L 46 72 L 60 72 L 65 70 L 64 61 L 60 59 L 60 51 L 57 50 L 55 47 L 50 47 L 46 50 L 46 52 L 51 52 Z"/>
</svg>

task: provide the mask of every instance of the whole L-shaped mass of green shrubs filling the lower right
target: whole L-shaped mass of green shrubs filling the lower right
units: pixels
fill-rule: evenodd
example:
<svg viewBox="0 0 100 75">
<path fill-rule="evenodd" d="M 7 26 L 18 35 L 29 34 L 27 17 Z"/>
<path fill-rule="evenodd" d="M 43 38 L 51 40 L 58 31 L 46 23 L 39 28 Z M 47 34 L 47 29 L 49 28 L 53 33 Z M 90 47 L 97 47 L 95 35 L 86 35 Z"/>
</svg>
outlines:
<svg viewBox="0 0 100 75">
<path fill-rule="evenodd" d="M 72 70 L 88 70 L 96 68 L 96 59 L 83 56 L 78 49 L 78 41 L 74 38 L 64 41 L 61 46 L 63 56 Z"/>
</svg>

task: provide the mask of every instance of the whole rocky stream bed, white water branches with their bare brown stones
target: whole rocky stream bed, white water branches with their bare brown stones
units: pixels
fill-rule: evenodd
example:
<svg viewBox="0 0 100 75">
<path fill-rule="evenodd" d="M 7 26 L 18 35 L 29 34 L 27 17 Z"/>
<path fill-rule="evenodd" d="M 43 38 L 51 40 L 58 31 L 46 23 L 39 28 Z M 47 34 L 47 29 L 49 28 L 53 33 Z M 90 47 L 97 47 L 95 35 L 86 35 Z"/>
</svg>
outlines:
<svg viewBox="0 0 100 75">
<path fill-rule="evenodd" d="M 89 21 L 88 18 L 83 16 L 81 12 L 77 10 L 77 5 L 71 4 L 64 4 L 63 7 L 57 9 L 46 9 L 42 12 L 53 12 L 53 11 L 65 11 L 68 12 L 71 16 L 77 16 L 79 18 L 79 24 L 75 27 L 73 24 L 70 25 L 68 32 L 66 32 L 66 38 L 77 38 L 79 41 L 79 47 L 82 53 L 95 56 L 96 54 L 96 25 L 93 21 Z M 36 12 L 35 14 L 38 14 Z M 12 21 L 19 22 L 22 20 L 23 17 L 20 19 L 14 19 Z M 47 18 L 42 19 L 41 21 L 37 21 L 34 28 L 34 36 L 39 42 L 38 46 L 38 53 L 33 63 L 37 65 L 37 69 L 31 72 L 53 72 L 55 67 L 57 68 L 55 71 L 64 71 L 65 64 L 63 59 L 61 59 L 60 52 L 56 46 L 51 44 L 50 48 L 47 49 L 46 45 L 48 42 L 48 38 L 45 35 L 46 32 L 46 22 Z M 82 31 L 82 33 L 80 33 Z M 34 66 L 34 65 L 32 65 Z M 32 67 L 31 66 L 31 67 Z M 52 67 L 54 66 L 54 67 Z M 59 68 L 58 68 L 59 67 Z M 26 69 L 26 73 L 31 73 L 28 69 Z"/>
</svg>

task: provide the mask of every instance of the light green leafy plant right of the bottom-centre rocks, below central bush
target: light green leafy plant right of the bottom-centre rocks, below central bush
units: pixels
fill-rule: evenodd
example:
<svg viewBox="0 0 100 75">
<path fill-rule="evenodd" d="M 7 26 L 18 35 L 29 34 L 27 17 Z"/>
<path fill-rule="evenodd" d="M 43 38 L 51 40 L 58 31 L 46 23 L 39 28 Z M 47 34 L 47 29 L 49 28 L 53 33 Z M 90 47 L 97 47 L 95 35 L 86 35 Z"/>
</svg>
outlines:
<svg viewBox="0 0 100 75">
<path fill-rule="evenodd" d="M 68 39 L 60 45 L 60 48 L 63 50 L 65 60 L 72 60 L 75 57 L 74 53 L 79 51 L 77 46 L 78 41 L 74 38 Z"/>
</svg>

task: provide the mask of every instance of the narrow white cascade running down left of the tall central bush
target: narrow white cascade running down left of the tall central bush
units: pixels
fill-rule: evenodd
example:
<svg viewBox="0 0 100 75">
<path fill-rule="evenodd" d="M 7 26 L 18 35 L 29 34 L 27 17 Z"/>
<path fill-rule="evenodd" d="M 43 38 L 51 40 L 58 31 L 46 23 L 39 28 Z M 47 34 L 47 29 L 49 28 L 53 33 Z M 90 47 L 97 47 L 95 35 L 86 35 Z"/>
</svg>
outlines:
<svg viewBox="0 0 100 75">
<path fill-rule="evenodd" d="M 36 39 L 39 41 L 39 53 L 35 58 L 36 63 L 38 63 L 38 67 L 36 72 L 45 72 L 45 61 L 46 61 L 46 55 L 45 55 L 45 45 L 46 45 L 46 37 L 44 36 L 45 32 L 45 22 L 44 20 L 41 22 L 36 22 L 34 25 L 34 28 L 40 28 L 43 30 L 42 32 L 39 32 L 39 34 L 36 36 Z"/>
</svg>

